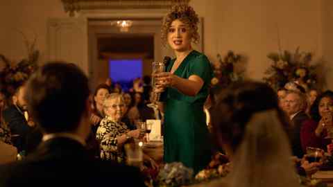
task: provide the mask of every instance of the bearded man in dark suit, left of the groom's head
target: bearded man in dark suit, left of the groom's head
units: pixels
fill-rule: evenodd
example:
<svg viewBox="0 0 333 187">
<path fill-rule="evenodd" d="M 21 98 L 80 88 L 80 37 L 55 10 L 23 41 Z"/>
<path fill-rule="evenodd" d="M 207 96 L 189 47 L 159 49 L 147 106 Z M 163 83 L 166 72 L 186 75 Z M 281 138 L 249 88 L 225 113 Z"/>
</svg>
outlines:
<svg viewBox="0 0 333 187">
<path fill-rule="evenodd" d="M 7 123 L 12 134 L 12 143 L 19 152 L 25 150 L 26 136 L 33 130 L 35 124 L 26 121 L 24 112 L 26 112 L 26 100 L 24 94 L 26 86 L 21 85 L 12 96 L 13 105 L 3 111 L 3 121 Z"/>
</svg>

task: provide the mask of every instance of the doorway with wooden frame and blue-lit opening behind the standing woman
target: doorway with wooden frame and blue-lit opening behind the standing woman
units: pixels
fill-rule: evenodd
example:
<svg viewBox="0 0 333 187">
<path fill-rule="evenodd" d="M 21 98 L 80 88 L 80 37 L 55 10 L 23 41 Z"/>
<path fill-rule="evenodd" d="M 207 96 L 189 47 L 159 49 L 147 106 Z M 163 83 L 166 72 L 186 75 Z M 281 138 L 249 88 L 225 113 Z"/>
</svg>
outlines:
<svg viewBox="0 0 333 187">
<path fill-rule="evenodd" d="M 114 68 L 120 68 L 125 60 L 135 60 L 141 63 L 141 75 L 151 75 L 151 62 L 162 60 L 164 52 L 160 39 L 162 19 L 132 19 L 133 26 L 127 32 L 121 32 L 117 26 L 112 26 L 110 20 L 89 20 L 89 78 L 92 88 L 112 78 Z M 119 63 L 117 66 L 117 63 Z M 127 64 L 127 65 L 128 65 Z M 140 69 L 139 66 L 136 67 Z M 133 79 L 129 69 L 118 69 L 117 73 L 128 75 L 127 80 Z M 120 75 L 120 74 L 119 74 Z M 124 87 L 128 87 L 124 84 Z"/>
</svg>

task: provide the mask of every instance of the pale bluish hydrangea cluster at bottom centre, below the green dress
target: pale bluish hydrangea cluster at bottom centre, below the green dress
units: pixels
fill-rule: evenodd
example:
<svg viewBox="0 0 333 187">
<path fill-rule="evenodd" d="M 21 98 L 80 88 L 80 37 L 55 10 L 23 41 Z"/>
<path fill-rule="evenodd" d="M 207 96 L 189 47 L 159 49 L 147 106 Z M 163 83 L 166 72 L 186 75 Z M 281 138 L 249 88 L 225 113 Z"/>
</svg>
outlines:
<svg viewBox="0 0 333 187">
<path fill-rule="evenodd" d="M 193 170 L 180 162 L 167 163 L 160 170 L 154 186 L 185 186 L 193 182 Z"/>
</svg>

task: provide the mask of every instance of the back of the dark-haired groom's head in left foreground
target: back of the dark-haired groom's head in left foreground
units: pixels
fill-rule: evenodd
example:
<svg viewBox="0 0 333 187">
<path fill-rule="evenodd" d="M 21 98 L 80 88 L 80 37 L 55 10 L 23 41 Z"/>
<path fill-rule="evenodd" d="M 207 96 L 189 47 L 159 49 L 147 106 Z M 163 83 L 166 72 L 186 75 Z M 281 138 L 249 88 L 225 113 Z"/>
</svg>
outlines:
<svg viewBox="0 0 333 187">
<path fill-rule="evenodd" d="M 66 62 L 46 63 L 26 84 L 28 111 L 46 133 L 76 130 L 88 96 L 87 76 Z"/>
</svg>

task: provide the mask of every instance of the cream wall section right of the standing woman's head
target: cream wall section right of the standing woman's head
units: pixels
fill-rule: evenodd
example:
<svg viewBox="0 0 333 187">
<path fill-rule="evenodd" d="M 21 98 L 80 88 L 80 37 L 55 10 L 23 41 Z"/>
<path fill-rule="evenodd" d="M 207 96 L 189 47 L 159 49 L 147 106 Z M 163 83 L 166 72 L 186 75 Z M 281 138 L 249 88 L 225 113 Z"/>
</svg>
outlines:
<svg viewBox="0 0 333 187">
<path fill-rule="evenodd" d="M 328 0 L 330 1 L 330 0 Z M 208 3 L 209 2 L 209 3 Z M 282 49 L 321 55 L 320 1 L 191 0 L 205 18 L 205 53 L 214 61 L 228 50 L 248 57 L 247 75 L 261 80 L 269 65 L 266 55 Z"/>
</svg>

